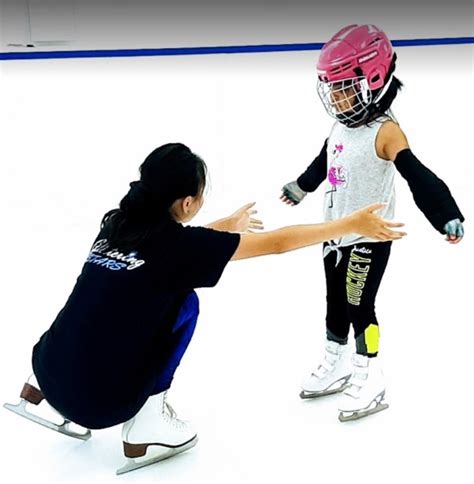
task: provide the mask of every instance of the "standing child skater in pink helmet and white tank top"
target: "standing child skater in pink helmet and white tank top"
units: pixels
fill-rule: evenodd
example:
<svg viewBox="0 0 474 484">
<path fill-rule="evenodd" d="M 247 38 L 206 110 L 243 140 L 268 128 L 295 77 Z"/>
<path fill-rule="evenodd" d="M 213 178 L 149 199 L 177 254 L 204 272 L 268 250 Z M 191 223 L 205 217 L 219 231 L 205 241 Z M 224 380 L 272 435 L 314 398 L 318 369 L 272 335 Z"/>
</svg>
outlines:
<svg viewBox="0 0 474 484">
<path fill-rule="evenodd" d="M 446 184 L 412 153 L 390 106 L 402 83 L 394 76 L 396 53 L 374 25 L 350 25 L 326 43 L 317 63 L 318 94 L 334 123 L 320 154 L 283 187 L 281 199 L 296 205 L 324 182 L 325 220 L 337 220 L 374 201 L 385 218 L 395 210 L 394 178 L 408 182 L 418 208 L 451 244 L 464 234 L 461 214 Z M 377 354 L 375 298 L 390 241 L 357 234 L 324 244 L 327 312 L 325 354 L 304 380 L 300 396 L 343 392 L 339 419 L 384 410 L 385 385 Z M 356 353 L 348 344 L 352 324 Z M 352 360 L 352 361 L 351 361 Z"/>
</svg>

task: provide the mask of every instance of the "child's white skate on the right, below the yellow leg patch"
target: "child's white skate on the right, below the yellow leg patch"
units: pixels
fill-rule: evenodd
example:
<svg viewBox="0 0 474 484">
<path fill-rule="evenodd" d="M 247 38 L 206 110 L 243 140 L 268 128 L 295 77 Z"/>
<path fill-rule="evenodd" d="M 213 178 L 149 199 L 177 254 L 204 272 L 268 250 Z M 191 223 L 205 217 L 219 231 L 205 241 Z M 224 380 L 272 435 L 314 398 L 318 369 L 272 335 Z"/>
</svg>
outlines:
<svg viewBox="0 0 474 484">
<path fill-rule="evenodd" d="M 378 358 L 353 356 L 353 372 L 349 387 L 339 402 L 339 420 L 357 420 L 388 408 L 385 403 L 385 384 Z"/>
</svg>

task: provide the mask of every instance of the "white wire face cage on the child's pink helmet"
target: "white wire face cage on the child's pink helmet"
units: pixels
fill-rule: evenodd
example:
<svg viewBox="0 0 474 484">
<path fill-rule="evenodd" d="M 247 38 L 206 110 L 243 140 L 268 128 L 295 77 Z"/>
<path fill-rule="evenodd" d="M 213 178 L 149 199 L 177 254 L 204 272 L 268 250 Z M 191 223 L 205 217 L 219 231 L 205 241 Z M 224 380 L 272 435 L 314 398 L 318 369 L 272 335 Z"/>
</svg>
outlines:
<svg viewBox="0 0 474 484">
<path fill-rule="evenodd" d="M 317 88 L 319 98 L 332 118 L 353 126 L 367 116 L 372 103 L 372 91 L 365 76 L 333 82 L 318 79 Z"/>
</svg>

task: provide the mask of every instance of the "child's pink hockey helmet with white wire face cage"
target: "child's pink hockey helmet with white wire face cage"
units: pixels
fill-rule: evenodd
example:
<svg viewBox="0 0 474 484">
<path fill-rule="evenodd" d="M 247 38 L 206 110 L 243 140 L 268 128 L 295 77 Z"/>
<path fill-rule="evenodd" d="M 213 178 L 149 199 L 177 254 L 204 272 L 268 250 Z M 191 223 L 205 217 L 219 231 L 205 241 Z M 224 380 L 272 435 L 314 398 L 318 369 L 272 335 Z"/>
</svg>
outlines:
<svg viewBox="0 0 474 484">
<path fill-rule="evenodd" d="M 323 46 L 316 67 L 328 114 L 348 125 L 360 122 L 385 93 L 393 61 L 392 44 L 375 25 L 349 25 L 337 32 Z"/>
</svg>

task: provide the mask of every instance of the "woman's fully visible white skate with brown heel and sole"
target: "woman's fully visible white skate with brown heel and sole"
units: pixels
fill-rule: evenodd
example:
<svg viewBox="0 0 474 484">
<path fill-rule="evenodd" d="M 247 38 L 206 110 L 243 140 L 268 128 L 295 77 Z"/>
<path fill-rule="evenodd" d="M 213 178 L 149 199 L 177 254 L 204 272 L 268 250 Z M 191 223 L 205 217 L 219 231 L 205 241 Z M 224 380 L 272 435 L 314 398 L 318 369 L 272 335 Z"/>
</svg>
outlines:
<svg viewBox="0 0 474 484">
<path fill-rule="evenodd" d="M 168 459 L 196 445 L 196 432 L 187 422 L 176 418 L 166 402 L 166 394 L 149 397 L 137 415 L 123 424 L 123 451 L 127 463 L 117 474 Z"/>
</svg>

